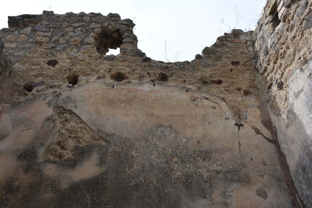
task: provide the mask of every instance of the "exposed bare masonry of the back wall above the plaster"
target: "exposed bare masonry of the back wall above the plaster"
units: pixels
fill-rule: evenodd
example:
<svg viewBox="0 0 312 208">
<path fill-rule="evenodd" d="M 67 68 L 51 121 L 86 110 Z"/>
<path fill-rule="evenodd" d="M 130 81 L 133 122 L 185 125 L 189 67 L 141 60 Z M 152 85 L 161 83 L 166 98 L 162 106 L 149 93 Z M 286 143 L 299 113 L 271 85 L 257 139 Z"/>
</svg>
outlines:
<svg viewBox="0 0 312 208">
<path fill-rule="evenodd" d="M 8 102 L 66 89 L 73 72 L 79 76 L 75 86 L 95 80 L 152 81 L 216 94 L 227 101 L 237 120 L 258 102 L 251 31 L 226 33 L 191 62 L 164 63 L 137 48 L 134 23 L 118 14 L 44 11 L 9 17 L 8 24 L 10 28 L 0 30 L 5 54 L 16 64 L 11 86 L 1 89 L 2 100 Z M 118 56 L 105 55 L 117 47 Z M 55 65 L 49 60 L 56 60 Z M 29 84 L 31 91 L 26 89 Z"/>
</svg>

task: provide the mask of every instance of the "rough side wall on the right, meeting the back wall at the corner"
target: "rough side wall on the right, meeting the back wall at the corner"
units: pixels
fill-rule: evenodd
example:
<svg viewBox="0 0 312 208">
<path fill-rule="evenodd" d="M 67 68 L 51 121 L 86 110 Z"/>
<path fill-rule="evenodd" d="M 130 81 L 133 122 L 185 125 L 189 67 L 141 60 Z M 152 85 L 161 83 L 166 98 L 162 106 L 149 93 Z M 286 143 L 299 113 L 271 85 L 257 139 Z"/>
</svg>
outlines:
<svg viewBox="0 0 312 208">
<path fill-rule="evenodd" d="M 266 2 L 255 31 L 257 78 L 295 187 L 312 207 L 312 1 Z"/>
</svg>

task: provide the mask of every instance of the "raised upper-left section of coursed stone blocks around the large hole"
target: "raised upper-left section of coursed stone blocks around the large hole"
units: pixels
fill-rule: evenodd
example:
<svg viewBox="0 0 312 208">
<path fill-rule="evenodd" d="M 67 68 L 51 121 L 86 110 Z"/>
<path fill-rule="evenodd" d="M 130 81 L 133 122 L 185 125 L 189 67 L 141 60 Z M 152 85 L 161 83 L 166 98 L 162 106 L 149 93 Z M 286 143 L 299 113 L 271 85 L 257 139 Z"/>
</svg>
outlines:
<svg viewBox="0 0 312 208">
<path fill-rule="evenodd" d="M 132 31 L 134 23 L 130 19 L 121 20 L 118 14 L 57 15 L 44 11 L 41 15 L 9 17 L 8 25 L 10 28 L 3 28 L 1 34 L 5 35 L 5 48 L 12 60 L 34 49 L 78 53 L 97 46 L 98 52 L 105 54 L 122 45 L 121 54 L 138 50 L 137 37 Z"/>
</svg>

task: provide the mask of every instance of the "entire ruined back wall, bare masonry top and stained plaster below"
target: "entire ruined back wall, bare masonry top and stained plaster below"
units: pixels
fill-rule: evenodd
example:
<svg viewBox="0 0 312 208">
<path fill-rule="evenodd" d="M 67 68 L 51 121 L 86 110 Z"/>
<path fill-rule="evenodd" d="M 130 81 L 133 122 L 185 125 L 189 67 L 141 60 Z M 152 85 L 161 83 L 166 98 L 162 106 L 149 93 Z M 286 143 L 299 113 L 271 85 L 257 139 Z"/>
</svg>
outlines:
<svg viewBox="0 0 312 208">
<path fill-rule="evenodd" d="M 298 205 L 258 90 L 252 31 L 164 63 L 137 48 L 118 14 L 44 11 L 8 25 L 0 206 Z"/>
</svg>

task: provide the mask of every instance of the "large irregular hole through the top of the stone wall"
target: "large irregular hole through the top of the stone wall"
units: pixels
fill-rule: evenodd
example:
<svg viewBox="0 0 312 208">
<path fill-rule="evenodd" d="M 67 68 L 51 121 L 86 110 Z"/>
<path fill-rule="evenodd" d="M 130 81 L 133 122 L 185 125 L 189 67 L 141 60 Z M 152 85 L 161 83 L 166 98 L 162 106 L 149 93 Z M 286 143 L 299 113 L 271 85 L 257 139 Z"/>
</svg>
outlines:
<svg viewBox="0 0 312 208">
<path fill-rule="evenodd" d="M 98 43 L 96 46 L 96 50 L 97 50 L 98 54 L 103 54 L 103 55 L 114 54 L 114 55 L 117 55 L 119 53 L 119 51 L 111 51 L 110 53 L 108 53 L 108 52 L 110 50 L 119 49 L 119 47 L 122 45 L 123 39 L 124 38 L 122 37 L 122 34 L 119 31 L 119 29 L 116 29 L 114 31 L 109 31 L 109 30 L 103 29 L 100 33 L 99 40 L 98 40 Z"/>
</svg>

